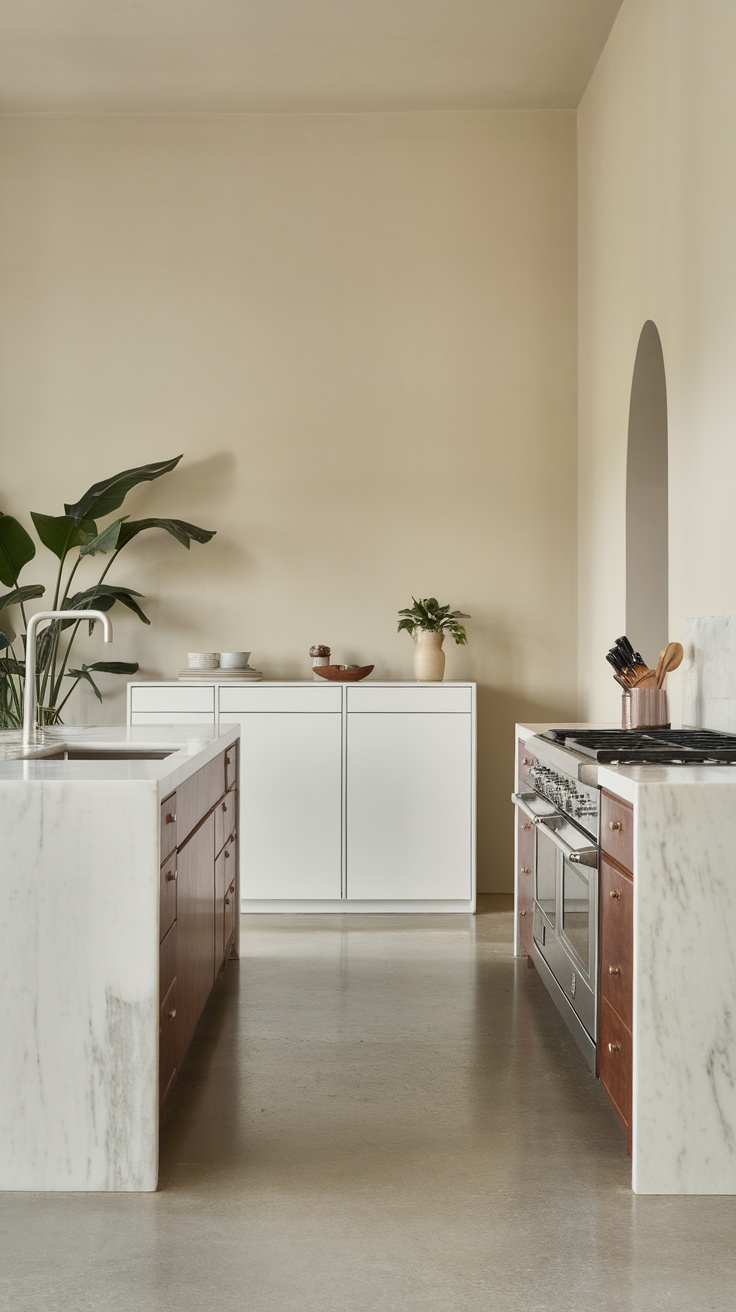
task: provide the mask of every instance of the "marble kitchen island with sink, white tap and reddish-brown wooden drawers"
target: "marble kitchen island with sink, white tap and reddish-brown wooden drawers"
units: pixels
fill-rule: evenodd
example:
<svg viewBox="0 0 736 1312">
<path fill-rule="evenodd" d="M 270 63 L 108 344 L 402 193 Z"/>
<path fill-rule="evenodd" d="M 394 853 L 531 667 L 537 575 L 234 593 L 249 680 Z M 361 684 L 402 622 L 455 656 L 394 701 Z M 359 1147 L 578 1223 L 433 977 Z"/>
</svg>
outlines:
<svg viewBox="0 0 736 1312">
<path fill-rule="evenodd" d="M 153 1190 L 163 1097 L 237 953 L 239 729 L 46 733 L 54 756 L 0 758 L 0 1189 Z"/>
</svg>

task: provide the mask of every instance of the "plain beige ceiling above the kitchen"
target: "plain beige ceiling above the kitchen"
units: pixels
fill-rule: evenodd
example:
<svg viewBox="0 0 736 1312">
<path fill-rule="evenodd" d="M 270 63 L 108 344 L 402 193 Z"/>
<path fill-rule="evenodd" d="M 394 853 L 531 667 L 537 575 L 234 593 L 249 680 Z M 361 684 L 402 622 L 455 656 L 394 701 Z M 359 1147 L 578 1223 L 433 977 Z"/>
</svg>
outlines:
<svg viewBox="0 0 736 1312">
<path fill-rule="evenodd" d="M 622 0 L 0 0 L 0 113 L 575 109 Z"/>
</svg>

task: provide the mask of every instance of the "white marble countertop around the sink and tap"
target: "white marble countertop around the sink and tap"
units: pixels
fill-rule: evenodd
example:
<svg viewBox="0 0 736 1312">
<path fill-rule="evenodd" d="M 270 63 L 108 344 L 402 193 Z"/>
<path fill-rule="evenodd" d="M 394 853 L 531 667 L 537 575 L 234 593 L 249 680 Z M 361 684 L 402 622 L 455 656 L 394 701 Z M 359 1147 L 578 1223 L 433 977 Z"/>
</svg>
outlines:
<svg viewBox="0 0 736 1312">
<path fill-rule="evenodd" d="M 192 724 L 156 724 L 129 727 L 126 724 L 72 726 L 60 724 L 43 731 L 43 744 L 39 753 L 22 760 L 17 733 L 0 732 L 0 785 L 16 783 L 155 783 L 161 796 L 173 791 L 178 783 L 197 769 L 214 760 L 239 736 L 237 726 L 214 726 L 197 729 Z M 42 754 L 49 748 L 87 748 L 121 750 L 167 750 L 169 756 L 159 761 L 136 760 L 135 756 L 119 760 L 54 761 Z"/>
</svg>

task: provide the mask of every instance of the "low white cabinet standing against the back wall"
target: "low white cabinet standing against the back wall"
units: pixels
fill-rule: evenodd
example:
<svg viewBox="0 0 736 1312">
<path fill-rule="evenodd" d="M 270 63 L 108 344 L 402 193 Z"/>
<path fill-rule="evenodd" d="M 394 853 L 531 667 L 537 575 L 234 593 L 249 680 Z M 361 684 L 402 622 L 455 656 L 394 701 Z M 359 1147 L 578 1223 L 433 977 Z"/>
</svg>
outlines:
<svg viewBox="0 0 736 1312">
<path fill-rule="evenodd" d="M 475 909 L 475 685 L 202 682 L 129 718 L 240 726 L 244 909 Z"/>
</svg>

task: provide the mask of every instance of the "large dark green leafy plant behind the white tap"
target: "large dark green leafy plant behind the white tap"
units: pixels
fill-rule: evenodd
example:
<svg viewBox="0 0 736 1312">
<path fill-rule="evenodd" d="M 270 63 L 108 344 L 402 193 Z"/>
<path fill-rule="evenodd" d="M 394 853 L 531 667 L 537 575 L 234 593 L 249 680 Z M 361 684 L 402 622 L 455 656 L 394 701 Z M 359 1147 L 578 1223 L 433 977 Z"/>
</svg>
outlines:
<svg viewBox="0 0 736 1312">
<path fill-rule="evenodd" d="M 31 512 L 31 520 L 41 543 L 51 551 L 59 564 L 50 609 L 51 610 L 112 610 L 126 606 L 144 623 L 151 621 L 140 609 L 139 592 L 109 584 L 106 577 L 123 547 L 140 533 L 163 529 L 189 550 L 192 542 L 209 542 L 214 533 L 199 529 L 184 520 L 131 520 L 119 516 L 101 526 L 100 520 L 118 510 L 131 488 L 150 483 L 176 468 L 181 455 L 155 464 L 142 464 L 123 470 L 112 478 L 94 483 L 79 501 L 64 505 L 64 514 L 50 516 Z M 0 583 L 10 592 L 0 597 L 0 728 L 17 728 L 22 722 L 25 651 L 28 626 L 26 604 L 46 594 L 39 583 L 21 583 L 21 571 L 35 556 L 35 543 L 18 520 L 0 512 Z M 102 569 L 88 586 L 79 586 L 77 571 L 85 562 L 102 556 Z M 79 590 L 75 590 L 77 588 Z M 7 611 L 18 607 L 22 628 L 16 636 Z M 62 711 L 80 682 L 91 685 L 98 701 L 102 693 L 96 674 L 135 674 L 138 664 L 131 661 L 94 661 L 72 668 L 71 652 L 83 621 L 51 621 L 38 635 L 37 646 L 37 698 L 43 707 L 47 724 L 62 722 Z M 89 626 L 92 631 L 92 625 Z M 71 684 L 70 684 L 71 681 Z"/>
</svg>

